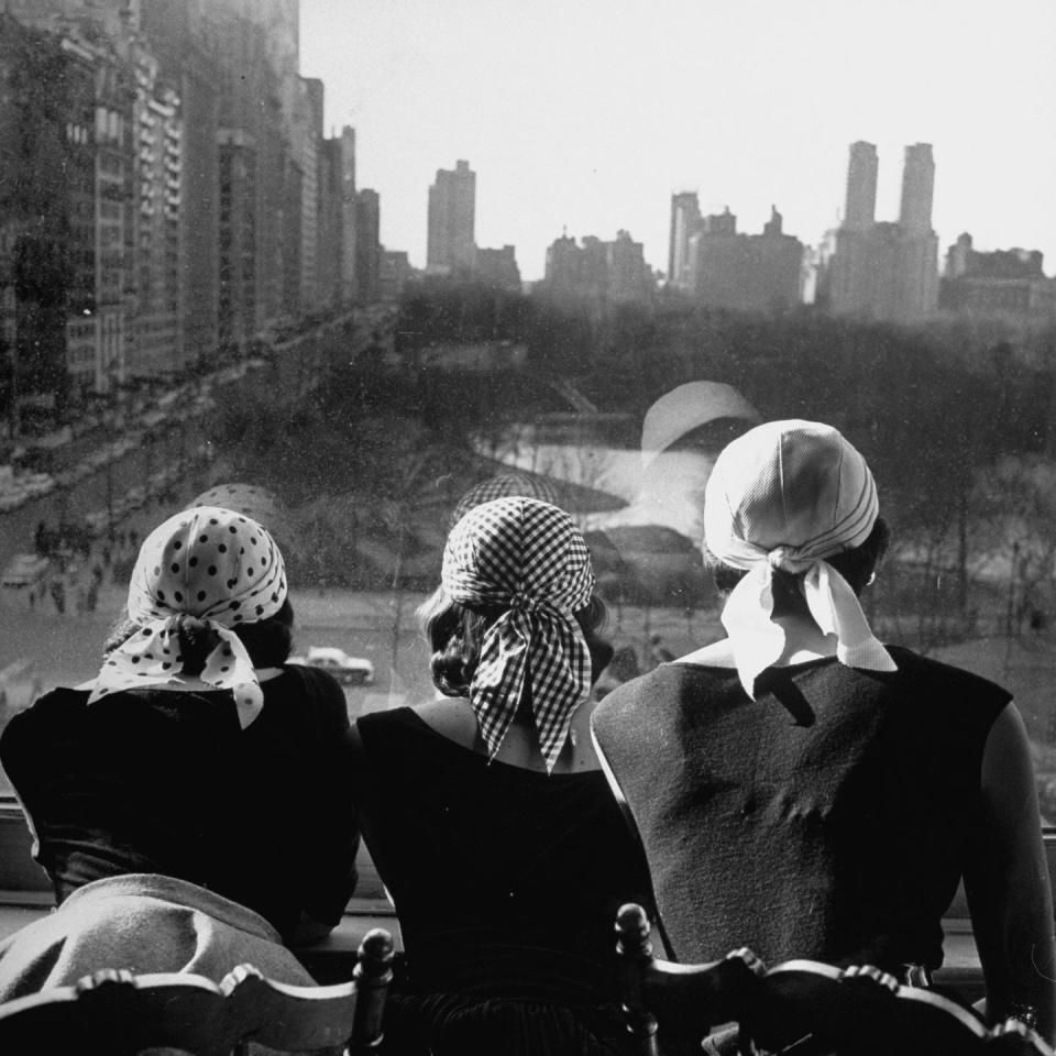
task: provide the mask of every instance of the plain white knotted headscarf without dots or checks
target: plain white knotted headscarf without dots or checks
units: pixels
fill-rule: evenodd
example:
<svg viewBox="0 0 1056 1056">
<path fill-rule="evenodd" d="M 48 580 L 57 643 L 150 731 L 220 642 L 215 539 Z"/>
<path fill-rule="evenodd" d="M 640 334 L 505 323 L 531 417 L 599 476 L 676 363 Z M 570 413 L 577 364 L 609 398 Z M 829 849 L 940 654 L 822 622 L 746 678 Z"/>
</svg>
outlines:
<svg viewBox="0 0 1056 1056">
<path fill-rule="evenodd" d="M 836 636 L 840 663 L 897 670 L 850 584 L 825 560 L 865 542 L 878 513 L 866 460 L 831 426 L 766 422 L 719 454 L 705 491 L 704 542 L 724 564 L 748 572 L 722 622 L 749 696 L 785 645 L 772 619 L 774 569 L 800 578 L 811 616 Z"/>
</svg>

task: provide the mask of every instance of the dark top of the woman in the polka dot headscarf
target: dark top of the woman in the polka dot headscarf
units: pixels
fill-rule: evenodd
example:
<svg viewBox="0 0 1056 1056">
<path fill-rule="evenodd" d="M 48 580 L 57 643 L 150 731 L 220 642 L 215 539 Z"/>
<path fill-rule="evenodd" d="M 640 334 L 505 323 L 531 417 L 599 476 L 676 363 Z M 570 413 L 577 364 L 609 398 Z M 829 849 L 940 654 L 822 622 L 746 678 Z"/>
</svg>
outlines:
<svg viewBox="0 0 1056 1056">
<path fill-rule="evenodd" d="M 87 705 L 57 689 L 15 715 L 0 761 L 62 902 L 103 877 L 155 872 L 255 910 L 286 937 L 336 924 L 355 884 L 344 693 L 287 667 L 239 727 L 229 691 L 143 689 Z"/>
</svg>

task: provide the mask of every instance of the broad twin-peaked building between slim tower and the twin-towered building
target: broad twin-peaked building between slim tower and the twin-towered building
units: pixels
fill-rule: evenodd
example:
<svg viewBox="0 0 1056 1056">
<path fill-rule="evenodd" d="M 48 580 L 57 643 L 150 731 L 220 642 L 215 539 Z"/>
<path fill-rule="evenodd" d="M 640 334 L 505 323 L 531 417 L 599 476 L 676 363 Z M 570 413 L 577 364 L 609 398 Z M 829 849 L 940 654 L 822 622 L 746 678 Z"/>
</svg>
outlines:
<svg viewBox="0 0 1056 1056">
<path fill-rule="evenodd" d="M 801 300 L 803 243 L 771 208 L 762 234 L 740 234 L 725 211 L 704 217 L 690 239 L 685 288 L 710 308 L 783 311 Z"/>
</svg>

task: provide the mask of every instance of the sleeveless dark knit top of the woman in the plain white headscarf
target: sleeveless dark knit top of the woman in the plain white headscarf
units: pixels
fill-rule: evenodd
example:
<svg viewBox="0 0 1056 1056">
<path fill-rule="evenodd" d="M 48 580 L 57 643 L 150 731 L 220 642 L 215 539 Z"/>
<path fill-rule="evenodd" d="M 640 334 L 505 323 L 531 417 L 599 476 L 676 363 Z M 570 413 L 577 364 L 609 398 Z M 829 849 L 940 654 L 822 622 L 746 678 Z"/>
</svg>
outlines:
<svg viewBox="0 0 1056 1056">
<path fill-rule="evenodd" d="M 662 664 L 602 702 L 595 737 L 679 959 L 942 964 L 1010 695 L 890 652 L 897 672 L 768 669 L 755 702 L 733 669 Z"/>
</svg>

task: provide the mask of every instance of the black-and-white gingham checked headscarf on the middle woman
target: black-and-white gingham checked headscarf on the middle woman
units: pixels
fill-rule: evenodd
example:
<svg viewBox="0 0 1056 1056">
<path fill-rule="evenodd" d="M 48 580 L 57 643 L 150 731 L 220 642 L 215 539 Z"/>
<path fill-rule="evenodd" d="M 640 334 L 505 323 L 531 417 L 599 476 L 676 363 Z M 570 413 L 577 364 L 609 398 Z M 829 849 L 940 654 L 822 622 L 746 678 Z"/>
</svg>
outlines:
<svg viewBox="0 0 1056 1056">
<path fill-rule="evenodd" d="M 590 551 L 568 514 L 535 498 L 471 509 L 443 551 L 443 590 L 470 608 L 505 612 L 487 628 L 470 703 L 494 759 L 530 678 L 531 706 L 549 773 L 572 713 L 591 690 L 591 658 L 573 613 L 594 591 Z"/>
</svg>

